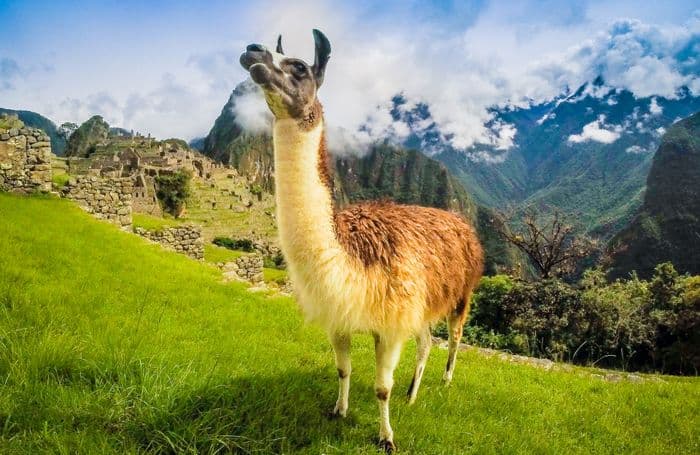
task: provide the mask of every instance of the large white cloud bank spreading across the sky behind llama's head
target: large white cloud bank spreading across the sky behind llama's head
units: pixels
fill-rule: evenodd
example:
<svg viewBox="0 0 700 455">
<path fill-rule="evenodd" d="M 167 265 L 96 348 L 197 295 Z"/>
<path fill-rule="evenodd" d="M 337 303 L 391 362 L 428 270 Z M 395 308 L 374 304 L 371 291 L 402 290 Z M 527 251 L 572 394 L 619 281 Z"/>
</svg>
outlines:
<svg viewBox="0 0 700 455">
<path fill-rule="evenodd" d="M 220 41 L 202 44 L 202 33 L 183 29 L 173 40 L 175 49 L 163 49 L 165 56 L 148 42 L 143 46 L 149 50 L 136 55 L 110 47 L 111 52 L 86 53 L 81 60 L 71 50 L 56 58 L 56 77 L 13 76 L 17 90 L 3 92 L 3 98 L 58 122 L 102 114 L 110 123 L 158 137 L 190 138 L 206 134 L 231 89 L 245 78 L 238 56 L 246 44 L 273 45 L 282 33 L 289 55 L 312 61 L 311 29 L 319 28 L 333 47 L 319 97 L 329 141 L 338 148 L 362 148 L 386 137 L 401 140 L 411 133 L 410 125 L 390 115 L 391 99 L 401 93 L 409 107 L 430 107 L 430 122 L 455 148 L 474 152 L 488 146 L 502 159 L 517 132 L 494 121 L 493 106 L 549 100 L 598 75 L 605 84 L 590 84 L 587 94 L 626 88 L 636 96 L 674 96 L 681 85 L 700 90 L 699 16 L 683 25 L 634 20 L 610 25 L 611 18 L 647 13 L 634 4 L 604 11 L 605 3 L 493 1 L 476 12 L 461 6 L 459 20 L 446 20 L 424 14 L 421 8 L 427 6 L 421 2 L 388 2 L 382 10 L 365 2 L 262 1 L 232 7 L 235 15 L 226 17 L 237 27 L 218 33 Z M 668 8 L 653 10 L 658 9 Z M 651 13 L 649 18 L 654 19 Z M 118 42 L 106 32 L 102 39 Z M 235 110 L 246 128 L 267 128 L 259 98 L 246 97 Z M 412 128 L 428 126 L 418 122 Z M 596 120 L 571 141 L 614 141 L 619 135 L 616 127 Z"/>
</svg>

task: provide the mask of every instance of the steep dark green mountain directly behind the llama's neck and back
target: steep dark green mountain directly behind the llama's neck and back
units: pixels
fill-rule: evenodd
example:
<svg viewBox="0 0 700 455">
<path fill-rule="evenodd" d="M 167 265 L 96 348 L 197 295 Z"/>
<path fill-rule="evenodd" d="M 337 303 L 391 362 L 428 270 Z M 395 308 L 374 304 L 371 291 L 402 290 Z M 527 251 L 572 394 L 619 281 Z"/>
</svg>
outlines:
<svg viewBox="0 0 700 455">
<path fill-rule="evenodd" d="M 245 131 L 235 116 L 236 102 L 255 90 L 244 82 L 233 91 L 205 140 L 204 154 L 224 161 L 272 191 L 272 139 Z M 438 161 L 417 150 L 378 144 L 362 157 L 337 158 L 335 199 L 340 205 L 367 199 L 392 199 L 451 209 L 472 220 L 486 249 L 487 272 L 510 267 L 517 254 L 496 234 L 491 211 L 477 206 L 462 184 Z"/>
</svg>

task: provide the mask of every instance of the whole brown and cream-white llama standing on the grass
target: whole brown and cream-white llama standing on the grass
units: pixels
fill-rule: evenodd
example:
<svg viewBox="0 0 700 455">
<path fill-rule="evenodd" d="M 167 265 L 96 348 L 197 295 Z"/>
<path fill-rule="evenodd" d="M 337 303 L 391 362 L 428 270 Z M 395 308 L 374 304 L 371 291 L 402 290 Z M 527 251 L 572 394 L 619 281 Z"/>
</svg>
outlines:
<svg viewBox="0 0 700 455">
<path fill-rule="evenodd" d="M 376 351 L 374 391 L 379 404 L 379 444 L 395 450 L 389 423 L 393 373 L 404 342 L 417 342 L 408 389 L 418 393 L 431 347 L 430 326 L 447 318 L 449 350 L 444 382 L 455 368 L 472 290 L 483 270 L 474 229 L 446 211 L 367 202 L 344 210 L 333 204 L 333 178 L 316 94 L 323 83 L 330 43 L 313 31 L 313 65 L 251 44 L 241 65 L 264 93 L 275 118 L 275 197 L 280 245 L 307 320 L 328 333 L 338 369 L 333 414 L 345 417 L 350 390 L 350 339 L 371 333 Z"/>
</svg>

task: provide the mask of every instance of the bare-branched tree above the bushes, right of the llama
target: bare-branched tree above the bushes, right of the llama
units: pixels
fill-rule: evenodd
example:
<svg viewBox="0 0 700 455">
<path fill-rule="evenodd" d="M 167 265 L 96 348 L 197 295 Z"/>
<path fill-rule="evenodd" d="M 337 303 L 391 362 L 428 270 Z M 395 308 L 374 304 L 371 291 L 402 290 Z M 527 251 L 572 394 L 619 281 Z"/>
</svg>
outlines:
<svg viewBox="0 0 700 455">
<path fill-rule="evenodd" d="M 497 213 L 494 221 L 497 232 L 530 258 L 543 279 L 570 275 L 597 249 L 595 240 L 578 234 L 558 210 L 549 214 L 527 210 L 520 223 L 512 214 Z"/>
</svg>

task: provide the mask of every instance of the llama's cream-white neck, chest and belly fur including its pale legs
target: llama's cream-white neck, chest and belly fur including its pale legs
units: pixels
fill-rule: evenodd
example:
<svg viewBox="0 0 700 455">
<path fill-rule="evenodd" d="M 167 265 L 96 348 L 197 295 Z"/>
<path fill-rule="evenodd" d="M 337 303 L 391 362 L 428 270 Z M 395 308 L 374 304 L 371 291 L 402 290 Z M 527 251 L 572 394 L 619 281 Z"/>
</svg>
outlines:
<svg viewBox="0 0 700 455">
<path fill-rule="evenodd" d="M 345 416 L 348 409 L 350 336 L 374 334 L 379 438 L 385 448 L 393 448 L 389 397 L 403 342 L 411 334 L 422 333 L 411 402 L 430 350 L 426 328 L 430 321 L 424 321 L 427 283 L 421 279 L 423 264 L 409 255 L 403 258 L 405 269 L 366 267 L 338 242 L 331 194 L 318 171 L 322 134 L 323 122 L 302 131 L 294 119 L 275 121 L 275 197 L 282 251 L 298 302 L 308 320 L 327 330 L 336 366 L 344 375 L 338 382 L 337 415 Z"/>
</svg>

